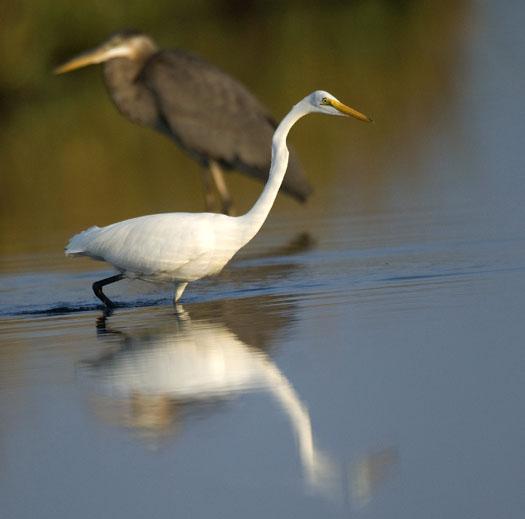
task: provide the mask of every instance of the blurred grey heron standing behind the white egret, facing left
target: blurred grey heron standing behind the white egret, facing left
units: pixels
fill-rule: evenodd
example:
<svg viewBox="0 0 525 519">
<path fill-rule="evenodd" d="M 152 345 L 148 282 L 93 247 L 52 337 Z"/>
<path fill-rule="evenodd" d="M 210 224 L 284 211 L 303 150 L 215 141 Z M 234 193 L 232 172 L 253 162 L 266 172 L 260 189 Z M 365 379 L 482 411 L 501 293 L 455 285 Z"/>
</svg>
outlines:
<svg viewBox="0 0 525 519">
<path fill-rule="evenodd" d="M 203 166 L 207 210 L 215 185 L 222 212 L 232 211 L 223 171 L 266 182 L 277 124 L 239 81 L 187 51 L 161 50 L 136 31 L 116 33 L 55 73 L 97 63 L 103 64 L 104 82 L 122 115 L 167 135 Z M 282 190 L 300 202 L 312 191 L 293 153 Z"/>
</svg>

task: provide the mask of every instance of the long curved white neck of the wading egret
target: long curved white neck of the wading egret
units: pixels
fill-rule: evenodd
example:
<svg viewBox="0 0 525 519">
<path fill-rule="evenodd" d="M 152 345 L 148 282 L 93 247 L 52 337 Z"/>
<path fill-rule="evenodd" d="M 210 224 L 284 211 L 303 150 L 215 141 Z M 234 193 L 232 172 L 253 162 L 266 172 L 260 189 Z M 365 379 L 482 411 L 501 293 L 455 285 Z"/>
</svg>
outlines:
<svg viewBox="0 0 525 519">
<path fill-rule="evenodd" d="M 259 231 L 265 222 L 275 197 L 284 179 L 288 167 L 289 151 L 286 147 L 286 137 L 292 126 L 308 113 L 307 106 L 303 101 L 296 104 L 292 110 L 281 121 L 272 139 L 272 163 L 268 174 L 268 182 L 254 206 L 243 216 L 238 217 L 242 234 L 242 245 L 248 243 Z"/>
</svg>

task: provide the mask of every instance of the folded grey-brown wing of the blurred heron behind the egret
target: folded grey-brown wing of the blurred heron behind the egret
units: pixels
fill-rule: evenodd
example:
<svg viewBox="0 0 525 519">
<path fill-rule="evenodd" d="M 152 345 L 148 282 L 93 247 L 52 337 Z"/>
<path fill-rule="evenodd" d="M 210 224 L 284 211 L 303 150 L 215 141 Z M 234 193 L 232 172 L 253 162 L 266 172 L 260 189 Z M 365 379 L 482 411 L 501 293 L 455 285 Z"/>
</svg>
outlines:
<svg viewBox="0 0 525 519">
<path fill-rule="evenodd" d="M 139 79 L 156 98 L 159 129 L 168 127 L 188 153 L 266 181 L 276 124 L 240 82 L 182 50 L 155 54 Z M 293 153 L 282 189 L 303 201 L 311 192 Z"/>
</svg>

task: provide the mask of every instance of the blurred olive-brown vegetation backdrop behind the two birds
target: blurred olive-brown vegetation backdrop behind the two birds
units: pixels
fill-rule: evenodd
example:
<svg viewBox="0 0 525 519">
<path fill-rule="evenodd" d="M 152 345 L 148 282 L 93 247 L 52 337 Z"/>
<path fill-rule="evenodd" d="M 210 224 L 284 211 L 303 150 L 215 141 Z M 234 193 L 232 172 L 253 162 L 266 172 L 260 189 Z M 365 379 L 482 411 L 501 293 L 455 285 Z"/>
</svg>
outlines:
<svg viewBox="0 0 525 519">
<path fill-rule="evenodd" d="M 368 184 L 388 182 L 396 149 L 417 154 L 432 118 L 450 109 L 467 7 L 467 0 L 2 3 L 0 252 L 55 250 L 92 224 L 203 209 L 199 167 L 120 116 L 99 67 L 52 75 L 110 33 L 135 27 L 161 47 L 200 54 L 243 81 L 277 118 L 316 88 L 372 115 L 373 131 L 319 119 L 294 129 L 290 140 L 318 196 L 306 209 L 281 197 L 277 211 L 313 218 L 329 203 L 322 193 L 341 178 L 360 179 L 353 189 L 365 197 L 373 193 Z M 241 210 L 261 189 L 239 175 L 227 180 Z M 383 201 L 372 195 L 366 203 Z"/>
</svg>

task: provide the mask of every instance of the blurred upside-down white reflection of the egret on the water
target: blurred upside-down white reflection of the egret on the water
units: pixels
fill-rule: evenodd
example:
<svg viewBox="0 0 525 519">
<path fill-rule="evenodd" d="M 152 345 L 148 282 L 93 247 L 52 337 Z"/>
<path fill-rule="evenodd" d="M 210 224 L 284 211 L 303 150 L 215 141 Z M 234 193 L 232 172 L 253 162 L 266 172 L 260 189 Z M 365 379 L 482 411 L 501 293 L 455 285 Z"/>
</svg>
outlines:
<svg viewBox="0 0 525 519">
<path fill-rule="evenodd" d="M 109 349 L 82 367 L 96 381 L 97 414 L 158 442 L 192 413 L 211 414 L 238 395 L 267 391 L 294 431 L 308 487 L 330 493 L 334 466 L 316 445 L 307 407 L 266 351 L 287 322 L 282 310 L 269 308 L 260 316 L 264 332 L 254 333 L 258 323 L 243 311 L 246 301 L 194 306 L 191 316 L 179 310 L 154 327 L 119 330 L 110 319 L 99 321 Z"/>
</svg>

